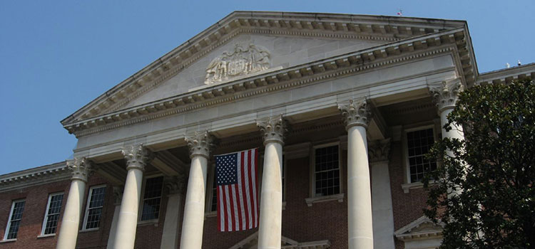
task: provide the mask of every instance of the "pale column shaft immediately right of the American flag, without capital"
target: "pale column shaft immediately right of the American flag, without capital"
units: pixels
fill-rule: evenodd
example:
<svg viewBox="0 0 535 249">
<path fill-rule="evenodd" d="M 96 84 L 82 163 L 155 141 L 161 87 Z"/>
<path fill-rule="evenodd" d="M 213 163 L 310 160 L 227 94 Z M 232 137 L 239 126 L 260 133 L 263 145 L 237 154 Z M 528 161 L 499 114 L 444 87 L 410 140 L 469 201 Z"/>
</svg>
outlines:
<svg viewBox="0 0 535 249">
<path fill-rule="evenodd" d="M 280 248 L 282 230 L 282 144 L 265 145 L 258 248 Z"/>
</svg>

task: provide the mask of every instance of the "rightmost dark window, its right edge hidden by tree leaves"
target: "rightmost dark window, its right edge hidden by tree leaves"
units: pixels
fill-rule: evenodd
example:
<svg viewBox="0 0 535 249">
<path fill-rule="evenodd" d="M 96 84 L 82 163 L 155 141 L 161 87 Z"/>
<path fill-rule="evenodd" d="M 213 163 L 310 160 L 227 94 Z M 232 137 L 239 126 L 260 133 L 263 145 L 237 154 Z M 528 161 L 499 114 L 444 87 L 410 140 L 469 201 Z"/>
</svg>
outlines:
<svg viewBox="0 0 535 249">
<path fill-rule="evenodd" d="M 409 183 L 421 181 L 429 171 L 437 169 L 437 161 L 425 159 L 434 144 L 433 128 L 407 131 L 407 166 Z"/>
</svg>

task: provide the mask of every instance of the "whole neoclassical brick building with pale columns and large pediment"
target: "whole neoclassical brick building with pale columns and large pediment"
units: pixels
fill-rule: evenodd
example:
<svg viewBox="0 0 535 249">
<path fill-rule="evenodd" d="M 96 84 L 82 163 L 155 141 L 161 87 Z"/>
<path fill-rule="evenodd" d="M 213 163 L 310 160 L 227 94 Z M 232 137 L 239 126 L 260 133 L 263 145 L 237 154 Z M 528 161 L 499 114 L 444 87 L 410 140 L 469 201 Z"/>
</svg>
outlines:
<svg viewBox="0 0 535 249">
<path fill-rule="evenodd" d="M 74 159 L 0 176 L 0 248 L 436 248 L 458 93 L 534 77 L 479 73 L 465 21 L 236 11 L 61 121 Z M 258 228 L 220 232 L 213 156 L 255 147 Z"/>
</svg>

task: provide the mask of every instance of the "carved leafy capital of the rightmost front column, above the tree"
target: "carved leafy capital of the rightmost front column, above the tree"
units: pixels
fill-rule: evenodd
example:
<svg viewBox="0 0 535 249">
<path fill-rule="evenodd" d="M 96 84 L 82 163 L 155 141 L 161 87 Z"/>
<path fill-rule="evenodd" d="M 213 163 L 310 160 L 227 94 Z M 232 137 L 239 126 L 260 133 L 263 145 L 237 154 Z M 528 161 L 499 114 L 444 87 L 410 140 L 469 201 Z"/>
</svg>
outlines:
<svg viewBox="0 0 535 249">
<path fill-rule="evenodd" d="M 445 109 L 453 109 L 459 98 L 459 92 L 462 92 L 463 85 L 461 80 L 442 81 L 441 85 L 429 86 L 429 93 L 433 96 L 433 101 L 437 104 L 439 115 Z"/>
</svg>

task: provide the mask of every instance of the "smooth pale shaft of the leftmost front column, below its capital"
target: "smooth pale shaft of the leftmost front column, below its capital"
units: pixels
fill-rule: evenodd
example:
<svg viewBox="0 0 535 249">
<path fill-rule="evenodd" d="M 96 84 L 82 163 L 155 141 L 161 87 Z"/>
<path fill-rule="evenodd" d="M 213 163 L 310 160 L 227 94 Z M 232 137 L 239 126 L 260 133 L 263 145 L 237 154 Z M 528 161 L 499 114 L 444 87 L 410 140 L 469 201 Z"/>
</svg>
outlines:
<svg viewBox="0 0 535 249">
<path fill-rule="evenodd" d="M 67 203 L 63 212 L 63 220 L 59 229 L 58 243 L 56 245 L 58 249 L 73 249 L 76 247 L 85 191 L 86 182 L 79 179 L 71 181 L 71 188 L 68 190 Z"/>
</svg>

